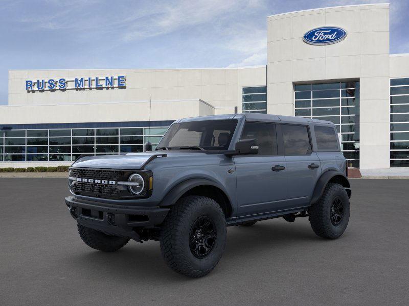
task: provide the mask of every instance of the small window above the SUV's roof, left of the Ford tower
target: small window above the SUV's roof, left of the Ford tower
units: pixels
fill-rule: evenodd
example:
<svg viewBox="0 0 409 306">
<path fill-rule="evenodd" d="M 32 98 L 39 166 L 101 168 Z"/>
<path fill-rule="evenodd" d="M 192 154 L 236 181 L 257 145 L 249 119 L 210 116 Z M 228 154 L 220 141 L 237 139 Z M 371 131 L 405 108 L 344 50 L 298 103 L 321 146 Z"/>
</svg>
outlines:
<svg viewBox="0 0 409 306">
<path fill-rule="evenodd" d="M 267 114 L 267 87 L 243 87 L 243 113 Z"/>
</svg>

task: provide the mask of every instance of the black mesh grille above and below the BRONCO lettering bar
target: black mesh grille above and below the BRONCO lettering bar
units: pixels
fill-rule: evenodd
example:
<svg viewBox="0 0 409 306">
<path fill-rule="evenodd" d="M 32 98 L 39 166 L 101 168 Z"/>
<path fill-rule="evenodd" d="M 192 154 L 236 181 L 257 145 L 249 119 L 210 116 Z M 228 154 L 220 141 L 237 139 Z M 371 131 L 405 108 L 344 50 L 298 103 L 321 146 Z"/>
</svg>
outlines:
<svg viewBox="0 0 409 306">
<path fill-rule="evenodd" d="M 81 179 L 121 181 L 121 179 L 123 179 L 124 176 L 124 172 L 119 170 L 81 169 L 81 168 L 72 168 L 72 170 L 74 177 L 77 178 L 80 177 Z M 71 188 L 77 194 L 112 198 L 120 196 L 122 192 L 118 185 L 96 184 L 77 181 L 75 181 L 71 185 Z"/>
</svg>

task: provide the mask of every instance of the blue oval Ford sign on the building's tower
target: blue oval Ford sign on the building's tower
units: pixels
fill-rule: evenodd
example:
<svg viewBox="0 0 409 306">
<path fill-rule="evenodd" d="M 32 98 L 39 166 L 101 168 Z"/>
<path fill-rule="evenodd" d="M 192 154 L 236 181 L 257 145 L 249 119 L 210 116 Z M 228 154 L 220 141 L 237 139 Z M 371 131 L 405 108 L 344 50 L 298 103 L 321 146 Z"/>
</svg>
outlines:
<svg viewBox="0 0 409 306">
<path fill-rule="evenodd" d="M 347 31 L 338 27 L 315 28 L 304 34 L 303 40 L 312 45 L 336 43 L 347 37 Z"/>
</svg>

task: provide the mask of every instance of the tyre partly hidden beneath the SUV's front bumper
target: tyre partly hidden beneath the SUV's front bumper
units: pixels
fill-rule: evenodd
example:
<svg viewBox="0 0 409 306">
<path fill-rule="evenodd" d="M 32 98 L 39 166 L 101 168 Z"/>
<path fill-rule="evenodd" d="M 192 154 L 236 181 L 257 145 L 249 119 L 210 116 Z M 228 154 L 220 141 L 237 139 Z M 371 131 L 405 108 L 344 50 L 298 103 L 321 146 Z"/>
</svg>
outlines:
<svg viewBox="0 0 409 306">
<path fill-rule="evenodd" d="M 82 241 L 84 241 L 87 246 L 99 251 L 115 252 L 129 241 L 129 238 L 109 236 L 79 223 L 77 223 L 77 226 Z"/>
</svg>

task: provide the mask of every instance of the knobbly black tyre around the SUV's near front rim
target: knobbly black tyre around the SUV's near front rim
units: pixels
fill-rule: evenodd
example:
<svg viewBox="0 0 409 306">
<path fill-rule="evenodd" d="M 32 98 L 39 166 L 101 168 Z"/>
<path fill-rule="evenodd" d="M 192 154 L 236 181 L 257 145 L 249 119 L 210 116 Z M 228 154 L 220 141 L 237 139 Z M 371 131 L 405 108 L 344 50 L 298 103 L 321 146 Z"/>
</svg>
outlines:
<svg viewBox="0 0 409 306">
<path fill-rule="evenodd" d="M 194 256 L 190 247 L 191 231 L 200 218 L 209 218 L 215 229 L 210 253 Z M 205 196 L 186 196 L 171 207 L 160 234 L 161 252 L 166 264 L 175 272 L 201 277 L 218 264 L 226 243 L 226 220 L 218 203 Z"/>
</svg>

